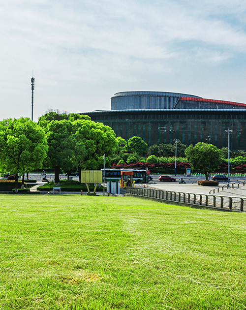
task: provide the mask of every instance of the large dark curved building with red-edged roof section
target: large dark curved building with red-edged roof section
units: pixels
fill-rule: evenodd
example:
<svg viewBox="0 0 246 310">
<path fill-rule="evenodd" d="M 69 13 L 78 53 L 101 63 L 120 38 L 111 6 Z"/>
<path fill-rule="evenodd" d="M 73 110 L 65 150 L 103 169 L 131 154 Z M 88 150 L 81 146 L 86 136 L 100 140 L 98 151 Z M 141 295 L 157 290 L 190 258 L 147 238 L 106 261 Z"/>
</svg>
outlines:
<svg viewBox="0 0 246 310">
<path fill-rule="evenodd" d="M 204 99 L 183 93 L 124 92 L 111 98 L 110 111 L 84 113 L 94 122 L 112 127 L 128 140 L 140 136 L 148 146 L 160 143 L 207 142 L 227 147 L 230 127 L 232 150 L 246 150 L 246 104 Z"/>
</svg>

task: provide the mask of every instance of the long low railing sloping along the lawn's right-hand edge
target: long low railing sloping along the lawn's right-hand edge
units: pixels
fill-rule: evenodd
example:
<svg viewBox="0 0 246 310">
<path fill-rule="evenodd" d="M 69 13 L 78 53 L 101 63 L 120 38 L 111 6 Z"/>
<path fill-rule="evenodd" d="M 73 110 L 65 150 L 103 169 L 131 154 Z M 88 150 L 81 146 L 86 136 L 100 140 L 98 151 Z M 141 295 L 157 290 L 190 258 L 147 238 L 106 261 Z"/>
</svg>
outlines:
<svg viewBox="0 0 246 310">
<path fill-rule="evenodd" d="M 180 205 L 207 207 L 231 211 L 244 211 L 246 197 L 230 197 L 211 194 L 193 194 L 169 190 L 126 187 L 126 193 L 161 201 L 172 201 Z"/>
</svg>

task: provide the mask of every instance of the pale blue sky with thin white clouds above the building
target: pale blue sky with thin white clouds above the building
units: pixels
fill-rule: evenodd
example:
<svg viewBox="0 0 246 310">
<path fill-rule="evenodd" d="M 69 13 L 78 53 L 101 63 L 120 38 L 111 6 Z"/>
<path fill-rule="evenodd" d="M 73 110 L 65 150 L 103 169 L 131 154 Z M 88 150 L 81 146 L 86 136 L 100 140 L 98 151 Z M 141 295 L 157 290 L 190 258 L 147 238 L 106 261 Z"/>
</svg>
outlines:
<svg viewBox="0 0 246 310">
<path fill-rule="evenodd" d="M 118 92 L 246 103 L 244 0 L 0 0 L 0 120 L 110 110 Z"/>
</svg>

